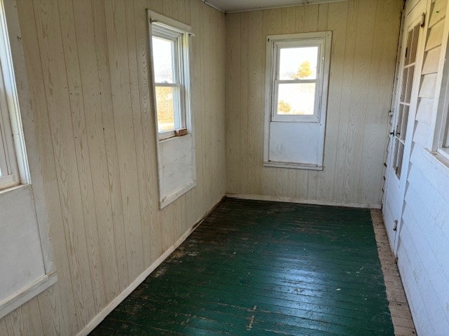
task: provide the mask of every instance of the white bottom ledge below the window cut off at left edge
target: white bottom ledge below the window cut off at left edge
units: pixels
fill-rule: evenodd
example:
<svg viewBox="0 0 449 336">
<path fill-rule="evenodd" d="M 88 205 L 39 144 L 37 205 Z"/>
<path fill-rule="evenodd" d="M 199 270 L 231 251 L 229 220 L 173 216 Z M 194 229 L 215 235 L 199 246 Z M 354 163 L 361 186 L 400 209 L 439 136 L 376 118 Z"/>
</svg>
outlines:
<svg viewBox="0 0 449 336">
<path fill-rule="evenodd" d="M 56 272 L 51 272 L 36 279 L 36 281 L 33 281 L 13 295 L 6 297 L 6 299 L 0 302 L 0 318 L 11 313 L 11 311 L 20 307 L 28 300 L 31 300 L 36 295 L 39 295 L 43 290 L 54 285 L 56 281 L 58 281 L 58 274 Z"/>
</svg>

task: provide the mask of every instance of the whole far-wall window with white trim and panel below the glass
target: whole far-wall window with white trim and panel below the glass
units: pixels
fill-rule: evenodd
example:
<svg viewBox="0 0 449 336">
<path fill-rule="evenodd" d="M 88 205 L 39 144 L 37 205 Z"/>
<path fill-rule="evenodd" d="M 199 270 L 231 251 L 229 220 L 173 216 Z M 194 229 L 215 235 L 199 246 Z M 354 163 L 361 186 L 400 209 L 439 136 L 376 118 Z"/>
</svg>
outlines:
<svg viewBox="0 0 449 336">
<path fill-rule="evenodd" d="M 265 166 L 323 169 L 331 36 L 267 36 Z"/>
</svg>

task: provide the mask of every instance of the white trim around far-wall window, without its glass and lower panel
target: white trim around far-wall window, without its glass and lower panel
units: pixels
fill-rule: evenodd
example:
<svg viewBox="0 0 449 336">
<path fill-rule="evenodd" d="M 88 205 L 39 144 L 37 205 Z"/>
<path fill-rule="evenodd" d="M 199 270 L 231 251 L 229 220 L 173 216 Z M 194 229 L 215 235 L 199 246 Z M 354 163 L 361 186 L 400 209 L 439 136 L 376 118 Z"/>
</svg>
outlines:
<svg viewBox="0 0 449 336">
<path fill-rule="evenodd" d="M 322 82 L 319 85 L 319 94 L 316 94 L 316 108 L 318 112 L 313 116 L 300 116 L 298 120 L 295 118 L 291 120 L 283 120 L 290 123 L 319 123 L 323 130 L 319 137 L 318 146 L 320 151 L 318 157 L 321 163 L 309 164 L 305 162 L 275 162 L 269 158 L 269 145 L 270 145 L 270 123 L 273 120 L 274 110 L 274 77 L 276 69 L 276 62 L 274 59 L 274 42 L 276 41 L 289 41 L 289 40 L 317 40 L 323 39 L 324 52 L 321 49 L 321 58 L 324 57 L 323 68 L 320 71 L 322 74 Z M 282 34 L 282 35 L 269 35 L 267 36 L 267 50 L 266 50 L 266 64 L 265 64 L 265 118 L 264 118 L 264 167 L 277 167 L 277 168 L 290 168 L 290 169 L 308 169 L 308 170 L 323 170 L 323 155 L 324 155 L 324 138 L 326 135 L 326 114 L 328 104 L 328 86 L 329 86 L 329 73 L 330 73 L 330 55 L 332 47 L 332 31 L 315 31 L 310 33 L 298 33 L 298 34 Z"/>
</svg>

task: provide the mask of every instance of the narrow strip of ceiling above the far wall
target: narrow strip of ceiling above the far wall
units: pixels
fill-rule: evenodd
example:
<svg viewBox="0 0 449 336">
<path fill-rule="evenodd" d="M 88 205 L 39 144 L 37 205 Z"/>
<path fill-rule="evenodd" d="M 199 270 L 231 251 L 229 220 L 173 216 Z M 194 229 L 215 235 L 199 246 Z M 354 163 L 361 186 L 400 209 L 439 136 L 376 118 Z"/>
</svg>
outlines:
<svg viewBox="0 0 449 336">
<path fill-rule="evenodd" d="M 201 0 L 225 13 L 346 0 Z"/>
</svg>

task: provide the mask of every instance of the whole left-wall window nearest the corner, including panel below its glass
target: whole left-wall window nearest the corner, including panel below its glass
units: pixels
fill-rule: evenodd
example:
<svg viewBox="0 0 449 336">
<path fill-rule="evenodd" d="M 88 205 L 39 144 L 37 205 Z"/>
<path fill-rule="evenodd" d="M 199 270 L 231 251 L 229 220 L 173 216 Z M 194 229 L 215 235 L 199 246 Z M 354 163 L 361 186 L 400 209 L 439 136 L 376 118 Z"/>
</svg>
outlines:
<svg viewBox="0 0 449 336">
<path fill-rule="evenodd" d="M 185 23 L 152 10 L 147 13 L 162 209 L 196 186 L 189 81 L 189 42 L 193 34 Z"/>
</svg>

